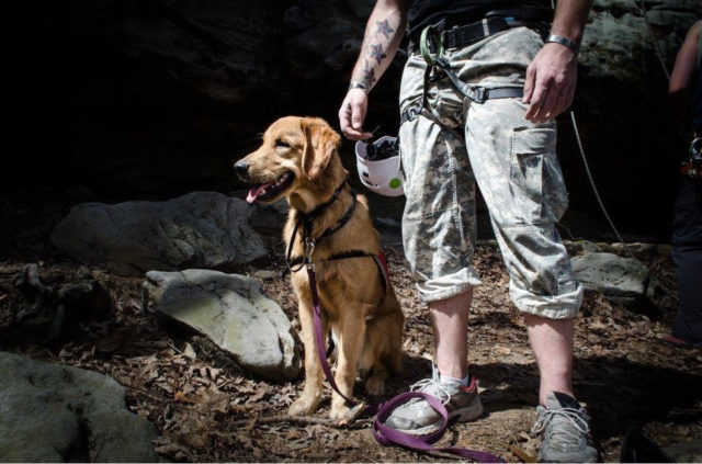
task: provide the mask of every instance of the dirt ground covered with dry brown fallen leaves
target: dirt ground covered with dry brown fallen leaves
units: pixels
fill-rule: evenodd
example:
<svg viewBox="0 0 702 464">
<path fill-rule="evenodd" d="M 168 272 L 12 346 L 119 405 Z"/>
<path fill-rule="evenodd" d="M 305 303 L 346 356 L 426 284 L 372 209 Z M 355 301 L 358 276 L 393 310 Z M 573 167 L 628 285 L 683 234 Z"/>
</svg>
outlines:
<svg viewBox="0 0 702 464">
<path fill-rule="evenodd" d="M 163 457 L 197 462 L 454 460 L 383 448 L 374 441 L 367 418 L 346 428 L 332 427 L 326 422 L 328 399 L 310 421 L 283 419 L 302 389 L 302 377 L 287 383 L 258 380 L 205 338 L 165 325 L 144 307 L 144 279 L 121 278 L 61 258 L 47 245 L 50 220 L 46 222 L 14 220 L 0 240 L 0 350 L 111 375 L 126 388 L 128 407 L 158 428 L 155 445 Z M 670 331 L 677 304 L 671 263 L 656 247 L 631 249 L 661 284 L 653 304 L 624 307 L 587 293 L 575 340 L 575 388 L 587 404 L 608 462 L 619 461 L 632 428 L 642 427 L 659 445 L 702 438 L 702 351 L 660 341 Z M 432 339 L 404 257 L 395 249 L 386 252 L 406 316 L 405 371 L 392 382 L 394 395 L 430 375 Z M 67 319 L 64 335 L 49 340 L 47 326 L 56 308 L 52 302 L 32 301 L 16 284 L 30 263 L 38 264 L 41 282 L 50 287 L 86 279 L 100 282 L 110 295 L 110 310 Z M 509 302 L 498 250 L 479 246 L 475 265 L 484 285 L 475 291 L 468 362 L 486 414 L 474 422 L 454 425 L 440 444 L 489 451 L 509 462 L 529 461 L 537 445 L 529 437 L 536 417 L 535 361 L 522 319 Z M 287 280 L 278 278 L 282 267 L 282 259 L 275 257 L 231 271 L 264 275 L 264 292 L 298 330 L 295 297 Z M 261 271 L 275 271 L 275 276 Z M 330 389 L 326 392 L 328 398 Z M 355 393 L 372 399 L 363 396 L 360 382 Z"/>
</svg>

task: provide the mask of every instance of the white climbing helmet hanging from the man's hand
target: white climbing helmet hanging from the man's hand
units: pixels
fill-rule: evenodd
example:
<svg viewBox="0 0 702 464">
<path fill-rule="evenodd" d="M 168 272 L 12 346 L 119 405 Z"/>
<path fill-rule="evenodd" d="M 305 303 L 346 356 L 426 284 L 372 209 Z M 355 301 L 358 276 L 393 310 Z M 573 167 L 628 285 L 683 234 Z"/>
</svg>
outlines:
<svg viewBox="0 0 702 464">
<path fill-rule="evenodd" d="M 355 166 L 363 185 L 385 196 L 405 194 L 397 137 L 381 137 L 371 145 L 373 148 L 369 150 L 365 142 L 360 140 L 355 144 Z M 377 152 L 377 158 L 369 156 L 369 151 L 372 151 L 372 155 Z"/>
</svg>

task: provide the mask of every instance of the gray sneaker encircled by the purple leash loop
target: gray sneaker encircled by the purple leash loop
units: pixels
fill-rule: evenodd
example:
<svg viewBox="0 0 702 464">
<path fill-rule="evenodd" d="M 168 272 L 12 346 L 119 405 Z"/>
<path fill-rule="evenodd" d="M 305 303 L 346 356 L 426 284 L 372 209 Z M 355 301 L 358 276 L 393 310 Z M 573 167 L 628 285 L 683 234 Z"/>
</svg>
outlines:
<svg viewBox="0 0 702 464">
<path fill-rule="evenodd" d="M 468 386 L 465 387 L 452 382 L 441 382 L 439 373 L 434 370 L 431 378 L 419 381 L 409 389 L 438 398 L 446 407 L 449 419 L 457 418 L 458 422 L 477 419 L 483 414 L 474 377 L 471 377 Z M 395 409 L 385 425 L 412 435 L 424 435 L 439 430 L 443 418 L 429 403 L 415 398 Z"/>
</svg>

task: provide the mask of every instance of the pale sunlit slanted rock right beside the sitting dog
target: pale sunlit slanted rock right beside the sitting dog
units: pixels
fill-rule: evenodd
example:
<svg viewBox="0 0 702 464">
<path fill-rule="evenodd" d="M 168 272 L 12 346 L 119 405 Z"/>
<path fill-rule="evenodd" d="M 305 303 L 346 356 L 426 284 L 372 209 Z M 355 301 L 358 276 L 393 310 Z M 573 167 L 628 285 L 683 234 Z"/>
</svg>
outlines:
<svg viewBox="0 0 702 464">
<path fill-rule="evenodd" d="M 290 320 L 256 280 L 199 269 L 146 275 L 159 314 L 207 336 L 245 369 L 278 381 L 299 373 Z"/>
</svg>

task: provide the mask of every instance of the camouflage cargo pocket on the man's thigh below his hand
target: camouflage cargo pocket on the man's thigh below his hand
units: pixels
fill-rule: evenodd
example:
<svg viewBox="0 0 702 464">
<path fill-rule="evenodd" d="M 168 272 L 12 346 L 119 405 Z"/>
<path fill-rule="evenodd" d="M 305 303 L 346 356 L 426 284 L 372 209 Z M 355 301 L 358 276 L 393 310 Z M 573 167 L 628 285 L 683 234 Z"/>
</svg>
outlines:
<svg viewBox="0 0 702 464">
<path fill-rule="evenodd" d="M 556 157 L 555 123 L 516 127 L 512 133 L 510 189 L 525 224 L 554 223 L 568 206 Z"/>
</svg>

